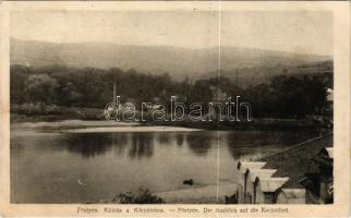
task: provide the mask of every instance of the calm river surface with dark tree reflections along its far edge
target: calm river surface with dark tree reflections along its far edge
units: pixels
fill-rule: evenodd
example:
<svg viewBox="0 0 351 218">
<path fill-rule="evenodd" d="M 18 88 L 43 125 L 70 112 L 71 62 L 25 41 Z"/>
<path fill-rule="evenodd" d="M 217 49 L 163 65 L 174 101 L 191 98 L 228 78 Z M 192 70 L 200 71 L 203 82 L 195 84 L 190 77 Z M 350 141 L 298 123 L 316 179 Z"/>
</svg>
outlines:
<svg viewBox="0 0 351 218">
<path fill-rule="evenodd" d="M 12 203 L 86 203 L 141 186 L 153 192 L 235 181 L 235 161 L 307 137 L 288 132 L 11 134 Z"/>
</svg>

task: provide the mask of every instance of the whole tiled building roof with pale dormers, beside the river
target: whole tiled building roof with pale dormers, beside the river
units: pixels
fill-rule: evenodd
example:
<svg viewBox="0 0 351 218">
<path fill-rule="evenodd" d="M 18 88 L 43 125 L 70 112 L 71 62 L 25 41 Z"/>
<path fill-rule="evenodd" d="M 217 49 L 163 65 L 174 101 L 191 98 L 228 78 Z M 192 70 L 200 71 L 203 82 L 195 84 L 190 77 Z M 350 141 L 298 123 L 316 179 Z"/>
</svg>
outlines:
<svg viewBox="0 0 351 218">
<path fill-rule="evenodd" d="M 332 133 L 315 137 L 256 161 L 239 161 L 238 170 L 264 193 L 283 192 L 289 202 L 300 203 L 305 187 L 303 182 L 315 165 L 332 167 Z M 314 160 L 314 161 L 312 161 Z"/>
</svg>

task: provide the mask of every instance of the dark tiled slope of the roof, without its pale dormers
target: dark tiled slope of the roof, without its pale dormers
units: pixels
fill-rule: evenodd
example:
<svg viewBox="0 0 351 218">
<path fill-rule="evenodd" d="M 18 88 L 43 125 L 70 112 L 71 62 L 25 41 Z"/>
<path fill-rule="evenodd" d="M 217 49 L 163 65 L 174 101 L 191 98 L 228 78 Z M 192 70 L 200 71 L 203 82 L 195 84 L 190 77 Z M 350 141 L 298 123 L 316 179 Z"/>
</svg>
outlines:
<svg viewBox="0 0 351 218">
<path fill-rule="evenodd" d="M 263 169 L 277 169 L 273 174 L 274 178 L 289 177 L 282 187 L 302 187 L 300 181 L 308 171 L 310 160 L 325 147 L 332 147 L 331 133 L 265 156 L 259 161 L 266 162 Z"/>
</svg>

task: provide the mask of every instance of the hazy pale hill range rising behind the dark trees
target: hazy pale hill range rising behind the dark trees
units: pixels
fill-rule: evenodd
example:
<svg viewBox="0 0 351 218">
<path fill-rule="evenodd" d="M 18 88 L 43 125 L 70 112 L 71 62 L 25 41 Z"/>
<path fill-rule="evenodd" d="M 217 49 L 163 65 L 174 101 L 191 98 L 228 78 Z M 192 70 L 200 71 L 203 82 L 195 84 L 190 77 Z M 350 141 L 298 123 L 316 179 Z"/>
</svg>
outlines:
<svg viewBox="0 0 351 218">
<path fill-rule="evenodd" d="M 331 60 L 330 57 L 289 53 L 252 48 L 221 47 L 221 71 L 233 77 L 237 69 L 242 77 L 251 81 L 263 74 Z M 194 80 L 216 74 L 218 70 L 218 47 L 187 49 L 167 46 L 121 46 L 108 43 L 53 44 L 26 41 L 11 38 L 11 64 L 27 66 L 64 65 L 68 68 L 119 68 L 134 69 L 142 73 L 161 75 L 169 73 L 171 78 Z M 243 73 L 241 73 L 243 72 Z M 255 76 L 250 76 L 250 73 Z M 249 76 L 249 77 L 247 77 Z M 268 76 L 269 77 L 269 76 Z M 256 77 L 256 78 L 259 78 Z M 242 81 L 244 82 L 244 80 Z"/>
</svg>

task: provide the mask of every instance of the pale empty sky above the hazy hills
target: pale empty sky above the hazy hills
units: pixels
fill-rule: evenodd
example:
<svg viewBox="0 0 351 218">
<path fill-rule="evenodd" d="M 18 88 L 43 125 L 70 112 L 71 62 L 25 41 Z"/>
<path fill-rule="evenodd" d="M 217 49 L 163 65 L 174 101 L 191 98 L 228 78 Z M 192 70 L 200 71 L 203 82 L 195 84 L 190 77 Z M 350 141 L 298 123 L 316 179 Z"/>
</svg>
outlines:
<svg viewBox="0 0 351 218">
<path fill-rule="evenodd" d="M 221 45 L 332 56 L 332 14 L 322 11 L 14 11 L 10 35 L 52 43 Z"/>
</svg>

